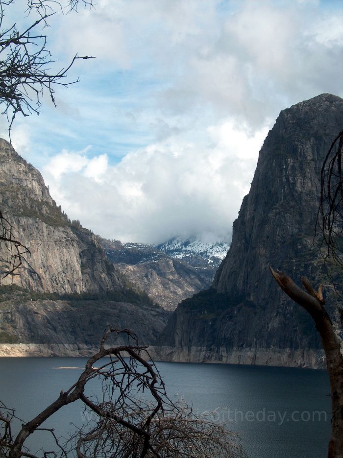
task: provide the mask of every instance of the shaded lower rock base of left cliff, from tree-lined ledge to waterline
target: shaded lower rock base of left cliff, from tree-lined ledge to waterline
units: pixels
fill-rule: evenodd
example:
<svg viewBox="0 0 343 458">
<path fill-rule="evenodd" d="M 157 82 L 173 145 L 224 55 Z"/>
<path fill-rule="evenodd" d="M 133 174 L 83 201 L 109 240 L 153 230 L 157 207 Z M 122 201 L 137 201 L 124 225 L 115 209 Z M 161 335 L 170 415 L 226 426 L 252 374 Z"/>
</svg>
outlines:
<svg viewBox="0 0 343 458">
<path fill-rule="evenodd" d="M 0 356 L 8 356 L 9 344 L 37 356 L 90 354 L 110 327 L 129 329 L 140 344 L 149 345 L 166 324 L 166 313 L 148 303 L 106 297 L 32 300 L 29 293 L 10 288 L 2 287 L 6 293 L 0 295 Z M 116 339 L 118 344 L 125 341 L 123 334 Z"/>
</svg>

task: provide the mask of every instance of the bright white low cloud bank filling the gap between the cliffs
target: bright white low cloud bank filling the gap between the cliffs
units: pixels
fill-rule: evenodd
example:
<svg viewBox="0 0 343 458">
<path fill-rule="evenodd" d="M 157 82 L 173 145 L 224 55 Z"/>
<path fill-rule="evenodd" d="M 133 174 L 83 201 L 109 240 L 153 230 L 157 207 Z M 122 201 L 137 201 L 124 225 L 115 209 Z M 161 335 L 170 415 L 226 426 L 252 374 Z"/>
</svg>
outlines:
<svg viewBox="0 0 343 458">
<path fill-rule="evenodd" d="M 43 175 L 67 214 L 104 237 L 159 243 L 211 233 L 229 240 L 266 133 L 249 137 L 226 121 L 207 129 L 206 148 L 174 137 L 115 166 L 103 155 L 89 159 L 88 149 L 62 151 Z"/>
</svg>

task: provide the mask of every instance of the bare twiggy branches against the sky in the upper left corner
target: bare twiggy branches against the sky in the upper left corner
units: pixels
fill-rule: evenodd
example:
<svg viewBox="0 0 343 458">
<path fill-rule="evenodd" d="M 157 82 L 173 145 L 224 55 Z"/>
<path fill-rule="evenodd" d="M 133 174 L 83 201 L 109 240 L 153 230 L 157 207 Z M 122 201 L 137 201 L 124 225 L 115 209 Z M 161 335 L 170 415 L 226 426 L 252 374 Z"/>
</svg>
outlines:
<svg viewBox="0 0 343 458">
<path fill-rule="evenodd" d="M 41 100 L 47 92 L 52 103 L 56 106 L 55 87 L 68 87 L 79 81 L 68 81 L 67 72 L 78 59 L 90 59 L 90 56 L 73 57 L 67 68 L 51 72 L 50 66 L 54 62 L 47 49 L 47 36 L 36 32 L 40 24 L 48 25 L 49 18 L 55 14 L 55 7 L 62 8 L 59 1 L 54 0 L 28 0 L 27 10 L 36 10 L 39 19 L 19 31 L 16 24 L 2 29 L 5 16 L 4 8 L 13 0 L 0 1 L 0 105 L 2 114 L 7 116 L 9 134 L 12 124 L 18 113 L 29 116 L 39 114 Z M 92 1 L 70 0 L 70 10 L 77 10 L 79 3 L 84 6 L 93 6 Z"/>
</svg>

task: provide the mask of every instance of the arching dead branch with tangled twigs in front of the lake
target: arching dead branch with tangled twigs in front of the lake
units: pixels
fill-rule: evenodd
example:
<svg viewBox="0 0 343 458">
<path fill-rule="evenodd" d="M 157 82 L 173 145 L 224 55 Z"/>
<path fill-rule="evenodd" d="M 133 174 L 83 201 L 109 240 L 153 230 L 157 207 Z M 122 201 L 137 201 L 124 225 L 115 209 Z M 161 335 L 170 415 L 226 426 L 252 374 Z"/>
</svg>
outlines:
<svg viewBox="0 0 343 458">
<path fill-rule="evenodd" d="M 111 334 L 129 332 L 109 329 L 105 332 L 99 352 L 86 363 L 79 379 L 31 421 L 22 425 L 13 437 L 9 433 L 11 415 L 0 416 L 0 457 L 30 457 L 25 440 L 35 431 L 53 434 L 60 454 L 67 456 L 53 430 L 41 428 L 42 423 L 62 407 L 80 400 L 93 414 L 93 420 L 69 441 L 75 442 L 71 452 L 79 458 L 214 458 L 245 457 L 237 436 L 205 416 L 196 416 L 182 401 L 173 403 L 146 347 L 122 345 L 105 347 Z M 109 357 L 99 367 L 95 364 Z M 94 399 L 85 393 L 87 383 L 98 378 L 102 396 Z M 1 410 L 1 409 L 0 409 Z M 91 416 L 91 415 L 90 415 Z M 44 457 L 55 452 L 44 452 Z M 35 457 L 37 458 L 37 457 Z"/>
</svg>

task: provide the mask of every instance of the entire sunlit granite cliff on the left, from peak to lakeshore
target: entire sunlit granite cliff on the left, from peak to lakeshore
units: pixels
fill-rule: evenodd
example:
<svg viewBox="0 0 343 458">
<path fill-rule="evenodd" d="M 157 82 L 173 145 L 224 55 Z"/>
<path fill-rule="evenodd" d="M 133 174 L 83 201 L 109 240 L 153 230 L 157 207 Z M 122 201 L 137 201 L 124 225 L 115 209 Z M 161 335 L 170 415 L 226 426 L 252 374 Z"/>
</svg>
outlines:
<svg viewBox="0 0 343 458">
<path fill-rule="evenodd" d="M 90 352 L 107 326 L 154 341 L 167 314 L 114 268 L 94 234 L 71 222 L 39 171 L 0 140 L 0 209 L 30 250 L 0 287 L 0 355 Z M 6 267 L 1 244 L 1 271 Z"/>
</svg>

